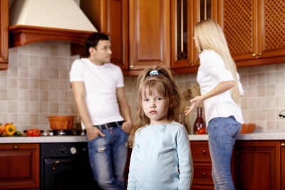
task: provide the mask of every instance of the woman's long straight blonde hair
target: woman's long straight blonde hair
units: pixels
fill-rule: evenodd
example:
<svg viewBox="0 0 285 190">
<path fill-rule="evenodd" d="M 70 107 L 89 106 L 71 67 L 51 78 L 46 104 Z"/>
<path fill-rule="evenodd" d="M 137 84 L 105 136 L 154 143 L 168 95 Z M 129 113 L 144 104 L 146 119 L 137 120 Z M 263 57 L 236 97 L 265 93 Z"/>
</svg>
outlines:
<svg viewBox="0 0 285 190">
<path fill-rule="evenodd" d="M 195 25 L 195 44 L 199 52 L 202 50 L 213 50 L 219 54 L 224 60 L 224 65 L 234 77 L 234 88 L 232 88 L 232 99 L 240 104 L 241 95 L 239 93 L 239 85 L 237 79 L 237 67 L 229 53 L 227 40 L 219 24 L 212 19 L 200 21 Z"/>
</svg>

